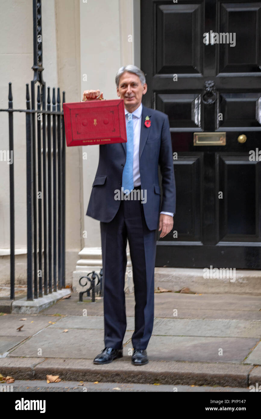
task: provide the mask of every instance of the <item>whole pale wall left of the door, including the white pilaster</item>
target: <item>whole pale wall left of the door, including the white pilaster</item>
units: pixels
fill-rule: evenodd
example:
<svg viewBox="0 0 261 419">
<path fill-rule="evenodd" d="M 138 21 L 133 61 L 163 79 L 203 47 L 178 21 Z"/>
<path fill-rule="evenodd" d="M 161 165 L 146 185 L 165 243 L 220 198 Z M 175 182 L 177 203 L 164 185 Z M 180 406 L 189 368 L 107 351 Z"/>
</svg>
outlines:
<svg viewBox="0 0 261 419">
<path fill-rule="evenodd" d="M 66 101 L 81 101 L 82 92 L 99 88 L 116 96 L 115 74 L 122 65 L 140 65 L 140 0 L 43 0 L 43 78 L 66 91 Z M 129 35 L 132 36 L 131 42 Z M 1 0 L 0 107 L 24 109 L 26 83 L 33 78 L 31 0 Z M 83 75 L 87 75 L 84 81 Z M 8 115 L 0 113 L 0 150 L 8 150 Z M 16 283 L 26 282 L 26 131 L 24 114 L 14 116 Z M 88 159 L 83 160 L 82 153 Z M 79 269 L 88 248 L 95 265 L 101 251 L 99 222 L 85 215 L 98 166 L 98 146 L 66 149 L 66 283 Z M 0 283 L 9 282 L 9 166 L 0 162 Z M 83 238 L 83 232 L 87 238 Z M 92 252 L 92 248 L 95 250 Z M 80 252 L 80 255 L 79 255 Z M 92 256 L 92 253 L 94 256 Z M 84 265 L 84 263 L 82 263 Z M 78 266 L 78 267 L 77 267 Z M 99 266 L 99 264 L 98 264 Z"/>
</svg>

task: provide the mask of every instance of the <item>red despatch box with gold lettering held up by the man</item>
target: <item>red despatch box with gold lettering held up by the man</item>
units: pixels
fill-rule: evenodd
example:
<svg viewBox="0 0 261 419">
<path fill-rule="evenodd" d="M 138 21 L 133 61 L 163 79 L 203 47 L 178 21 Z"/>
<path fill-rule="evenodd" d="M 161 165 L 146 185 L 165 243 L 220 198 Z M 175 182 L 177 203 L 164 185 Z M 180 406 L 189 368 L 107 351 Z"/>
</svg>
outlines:
<svg viewBox="0 0 261 419">
<path fill-rule="evenodd" d="M 127 142 L 124 100 L 64 103 L 66 144 Z"/>
</svg>

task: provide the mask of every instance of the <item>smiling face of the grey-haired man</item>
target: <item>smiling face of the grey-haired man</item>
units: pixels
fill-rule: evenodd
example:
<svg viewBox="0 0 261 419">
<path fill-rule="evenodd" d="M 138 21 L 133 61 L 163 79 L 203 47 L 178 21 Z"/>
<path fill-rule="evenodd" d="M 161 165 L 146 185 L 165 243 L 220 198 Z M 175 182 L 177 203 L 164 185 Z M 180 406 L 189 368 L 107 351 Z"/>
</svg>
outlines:
<svg viewBox="0 0 261 419">
<path fill-rule="evenodd" d="M 124 72 L 119 80 L 119 88 L 117 87 L 117 95 L 124 100 L 124 106 L 129 112 L 135 111 L 142 100 L 142 96 L 147 92 L 147 83 L 141 84 L 137 74 Z"/>
</svg>

